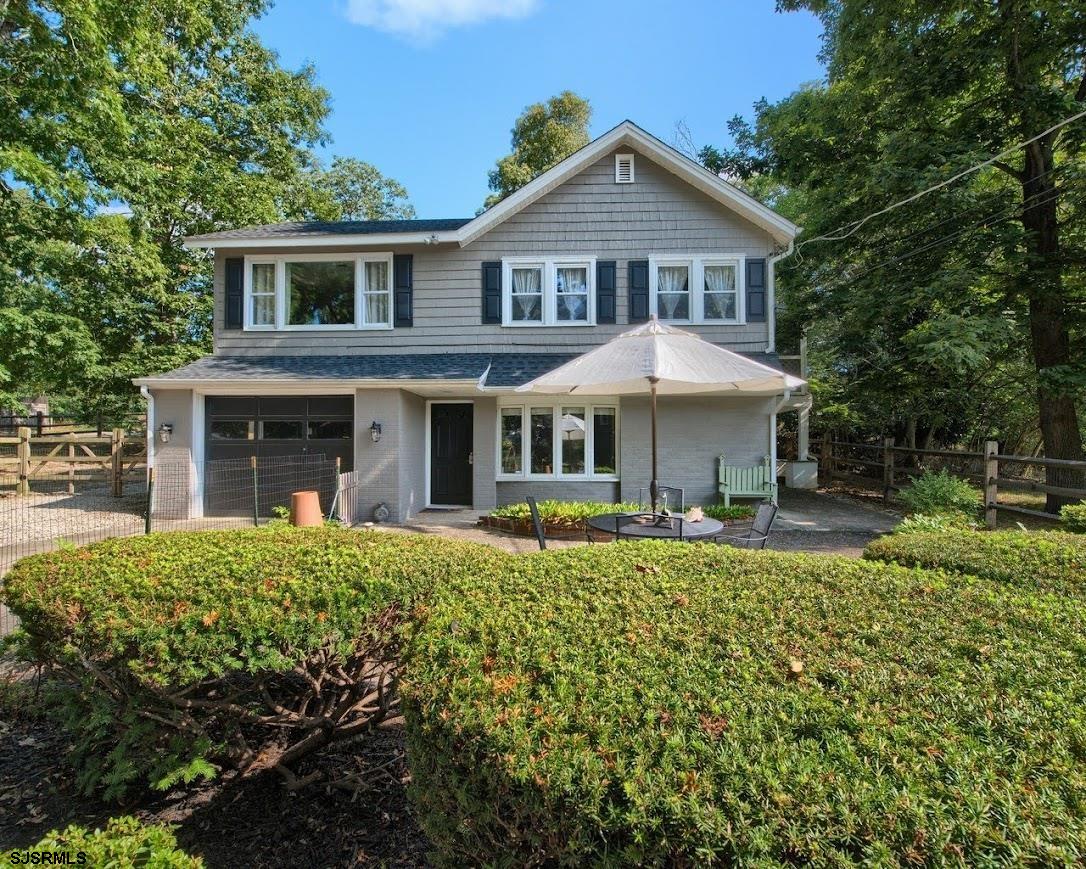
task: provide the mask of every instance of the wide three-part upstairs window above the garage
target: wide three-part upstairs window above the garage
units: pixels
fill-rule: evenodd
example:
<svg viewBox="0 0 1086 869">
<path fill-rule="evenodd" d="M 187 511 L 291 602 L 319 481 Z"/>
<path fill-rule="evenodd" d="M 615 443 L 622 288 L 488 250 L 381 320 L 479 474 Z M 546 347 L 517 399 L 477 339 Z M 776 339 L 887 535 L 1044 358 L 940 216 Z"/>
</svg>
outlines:
<svg viewBox="0 0 1086 869">
<path fill-rule="evenodd" d="M 392 254 L 245 259 L 247 329 L 392 328 Z"/>
</svg>

